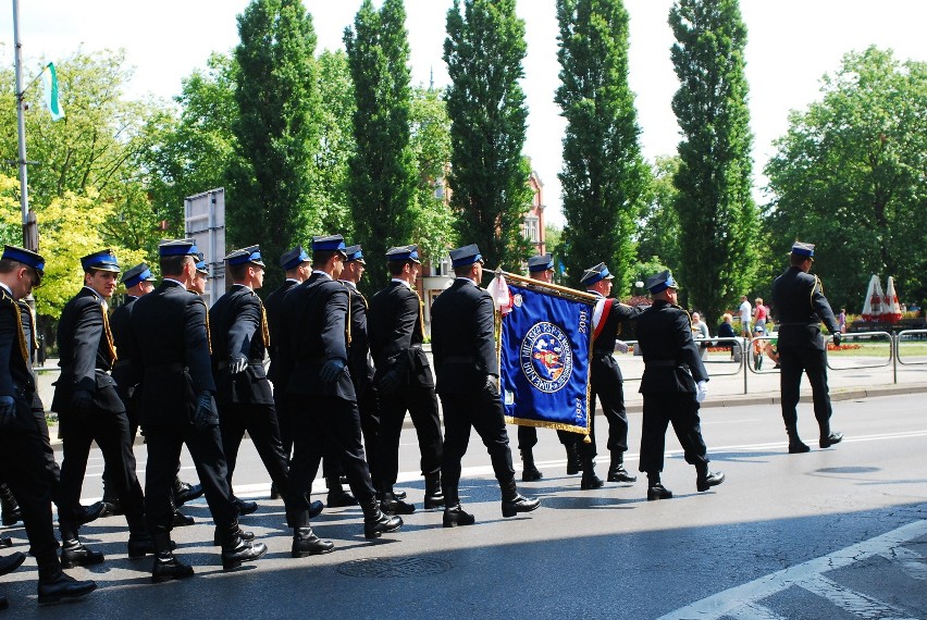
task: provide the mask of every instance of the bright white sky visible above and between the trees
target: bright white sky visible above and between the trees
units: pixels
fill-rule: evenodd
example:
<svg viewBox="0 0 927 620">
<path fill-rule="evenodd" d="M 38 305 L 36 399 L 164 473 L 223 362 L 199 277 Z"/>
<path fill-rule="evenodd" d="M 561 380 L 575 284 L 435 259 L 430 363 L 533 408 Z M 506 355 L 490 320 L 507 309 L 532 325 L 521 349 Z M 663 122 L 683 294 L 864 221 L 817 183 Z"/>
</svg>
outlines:
<svg viewBox="0 0 927 620">
<path fill-rule="evenodd" d="M 129 96 L 170 98 L 181 80 L 205 67 L 212 51 L 226 52 L 238 41 L 236 15 L 247 0 L 21 0 L 20 40 L 26 67 L 38 60 L 124 48 L 135 67 Z M 304 0 L 323 48 L 343 49 L 344 29 L 354 23 L 360 0 Z M 379 7 L 381 0 L 374 0 Z M 2 62 L 13 63 L 12 0 L 0 12 Z M 442 60 L 445 16 L 452 0 L 406 0 L 412 82 L 446 86 Z M 626 0 L 630 14 L 629 83 L 635 92 L 644 157 L 676 152 L 679 128 L 670 108 L 678 88 L 669 49 L 667 16 L 672 0 Z M 528 55 L 522 88 L 529 108 L 524 154 L 544 184 L 548 222 L 563 224 L 560 212 L 561 140 L 565 122 L 554 103 L 560 71 L 557 62 L 555 0 L 518 0 L 526 21 Z M 755 196 L 763 201 L 763 166 L 775 154 L 772 140 L 788 129 L 790 110 L 805 110 L 820 98 L 820 78 L 832 74 L 843 55 L 870 45 L 890 48 L 900 60 L 927 60 L 923 30 L 925 0 L 741 0 L 747 28 L 746 77 L 754 134 Z M 65 110 L 66 112 L 66 110 Z M 203 188 L 208 189 L 208 188 Z"/>
</svg>

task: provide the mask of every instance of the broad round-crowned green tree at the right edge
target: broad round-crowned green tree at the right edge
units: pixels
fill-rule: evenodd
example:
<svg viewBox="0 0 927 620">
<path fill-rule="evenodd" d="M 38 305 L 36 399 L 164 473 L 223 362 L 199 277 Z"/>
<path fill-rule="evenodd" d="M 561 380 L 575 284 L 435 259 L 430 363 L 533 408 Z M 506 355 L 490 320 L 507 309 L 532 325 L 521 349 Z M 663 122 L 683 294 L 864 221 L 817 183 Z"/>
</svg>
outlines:
<svg viewBox="0 0 927 620">
<path fill-rule="evenodd" d="M 902 300 L 927 296 L 927 63 L 851 52 L 823 98 L 789 117 L 766 166 L 766 224 L 780 271 L 793 239 L 815 243 L 835 306 L 862 308 L 870 274 Z"/>
</svg>

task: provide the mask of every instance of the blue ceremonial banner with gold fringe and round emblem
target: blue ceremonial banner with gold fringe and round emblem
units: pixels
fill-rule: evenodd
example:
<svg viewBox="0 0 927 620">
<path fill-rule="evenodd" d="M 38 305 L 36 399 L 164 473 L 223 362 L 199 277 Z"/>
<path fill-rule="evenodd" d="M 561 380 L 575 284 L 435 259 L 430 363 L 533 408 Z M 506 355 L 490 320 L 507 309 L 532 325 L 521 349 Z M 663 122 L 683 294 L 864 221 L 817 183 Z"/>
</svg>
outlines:
<svg viewBox="0 0 927 620">
<path fill-rule="evenodd" d="M 508 282 L 510 311 L 499 327 L 506 420 L 589 435 L 592 306 L 543 286 Z"/>
</svg>

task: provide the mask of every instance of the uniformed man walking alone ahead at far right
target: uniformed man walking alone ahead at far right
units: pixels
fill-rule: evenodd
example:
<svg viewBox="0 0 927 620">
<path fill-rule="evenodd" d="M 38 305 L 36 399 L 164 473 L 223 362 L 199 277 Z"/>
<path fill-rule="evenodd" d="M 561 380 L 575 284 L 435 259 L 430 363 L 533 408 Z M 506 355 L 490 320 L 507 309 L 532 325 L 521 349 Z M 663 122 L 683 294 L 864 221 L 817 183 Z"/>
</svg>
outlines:
<svg viewBox="0 0 927 620">
<path fill-rule="evenodd" d="M 799 436 L 799 389 L 802 371 L 808 376 L 814 398 L 814 417 L 820 431 L 818 445 L 829 448 L 843 439 L 842 433 L 830 430 L 830 394 L 827 387 L 827 358 L 820 335 L 820 322 L 840 345 L 840 327 L 833 317 L 824 286 L 808 271 L 814 263 L 814 245 L 795 241 L 789 253 L 791 265 L 772 283 L 772 306 L 779 314 L 779 382 L 782 390 L 782 420 L 789 435 L 789 454 L 806 452 L 811 448 Z"/>
</svg>

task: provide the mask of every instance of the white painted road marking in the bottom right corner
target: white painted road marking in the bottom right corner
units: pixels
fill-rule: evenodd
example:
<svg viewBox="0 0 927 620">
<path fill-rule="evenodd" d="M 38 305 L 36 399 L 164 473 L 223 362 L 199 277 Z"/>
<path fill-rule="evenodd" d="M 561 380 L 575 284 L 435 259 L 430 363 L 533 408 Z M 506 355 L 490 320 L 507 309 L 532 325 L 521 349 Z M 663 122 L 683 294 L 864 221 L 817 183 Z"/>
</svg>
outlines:
<svg viewBox="0 0 927 620">
<path fill-rule="evenodd" d="M 823 576 L 821 573 L 850 566 L 873 556 L 886 557 L 885 554 L 892 554 L 905 543 L 925 535 L 927 535 L 927 520 L 915 521 L 832 554 L 782 569 L 702 600 L 696 600 L 662 616 L 658 620 L 688 620 L 691 618 L 707 620 L 725 616 L 757 619 L 776 618 L 775 615 L 763 616 L 766 608 L 758 606 L 757 602 L 791 586 L 802 587 L 824 596 L 860 618 L 904 618 L 905 616 L 901 610 L 870 596 L 845 588 Z M 901 554 L 901 556 L 904 556 L 904 554 Z"/>
</svg>

